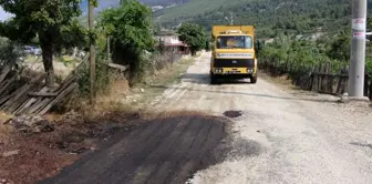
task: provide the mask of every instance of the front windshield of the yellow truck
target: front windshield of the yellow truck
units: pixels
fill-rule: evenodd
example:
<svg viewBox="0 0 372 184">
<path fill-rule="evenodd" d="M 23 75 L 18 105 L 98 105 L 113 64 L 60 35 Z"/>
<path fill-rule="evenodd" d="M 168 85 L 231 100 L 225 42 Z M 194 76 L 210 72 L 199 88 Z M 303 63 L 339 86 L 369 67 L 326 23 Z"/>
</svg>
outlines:
<svg viewBox="0 0 372 184">
<path fill-rule="evenodd" d="M 251 49 L 252 38 L 249 35 L 220 35 L 217 38 L 217 49 Z"/>
</svg>

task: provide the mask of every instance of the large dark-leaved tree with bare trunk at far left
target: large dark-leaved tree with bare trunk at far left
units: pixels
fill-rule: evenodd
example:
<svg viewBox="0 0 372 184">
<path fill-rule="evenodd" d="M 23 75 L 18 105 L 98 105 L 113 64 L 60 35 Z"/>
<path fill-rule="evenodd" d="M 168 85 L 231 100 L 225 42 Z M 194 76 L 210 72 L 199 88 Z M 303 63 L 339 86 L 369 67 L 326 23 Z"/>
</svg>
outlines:
<svg viewBox="0 0 372 184">
<path fill-rule="evenodd" d="M 29 43 L 39 38 L 46 85 L 54 85 L 53 53 L 63 42 L 63 32 L 70 30 L 72 18 L 81 14 L 80 0 L 0 0 L 0 6 L 13 18 L 0 23 L 0 34 Z"/>
</svg>

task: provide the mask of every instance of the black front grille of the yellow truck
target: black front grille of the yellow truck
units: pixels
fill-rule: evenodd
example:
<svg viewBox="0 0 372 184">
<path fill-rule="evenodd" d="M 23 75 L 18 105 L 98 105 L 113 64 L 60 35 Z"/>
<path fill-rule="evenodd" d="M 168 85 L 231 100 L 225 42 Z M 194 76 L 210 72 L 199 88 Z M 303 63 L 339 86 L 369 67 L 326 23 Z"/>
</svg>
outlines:
<svg viewBox="0 0 372 184">
<path fill-rule="evenodd" d="M 254 59 L 215 59 L 214 68 L 254 68 Z"/>
</svg>

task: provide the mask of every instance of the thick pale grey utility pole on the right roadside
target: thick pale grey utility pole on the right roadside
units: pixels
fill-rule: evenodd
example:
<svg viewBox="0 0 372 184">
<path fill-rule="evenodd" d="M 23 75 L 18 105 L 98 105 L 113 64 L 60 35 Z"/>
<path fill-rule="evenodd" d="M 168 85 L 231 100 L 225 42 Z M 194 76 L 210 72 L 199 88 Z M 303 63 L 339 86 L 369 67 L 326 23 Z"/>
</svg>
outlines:
<svg viewBox="0 0 372 184">
<path fill-rule="evenodd" d="M 352 39 L 349 95 L 363 98 L 365 67 L 366 0 L 352 0 Z"/>
</svg>

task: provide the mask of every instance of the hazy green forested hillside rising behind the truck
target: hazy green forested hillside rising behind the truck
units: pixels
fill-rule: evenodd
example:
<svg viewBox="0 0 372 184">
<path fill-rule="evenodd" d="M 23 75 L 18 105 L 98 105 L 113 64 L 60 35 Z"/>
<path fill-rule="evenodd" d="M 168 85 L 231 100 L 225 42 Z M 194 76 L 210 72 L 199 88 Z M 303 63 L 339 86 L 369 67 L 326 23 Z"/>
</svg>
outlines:
<svg viewBox="0 0 372 184">
<path fill-rule="evenodd" d="M 196 22 L 209 30 L 213 24 L 228 23 L 225 17 L 230 12 L 235 23 L 256 25 L 262 38 L 349 30 L 351 4 L 350 0 L 192 0 L 156 12 L 155 20 L 165 27 Z"/>
</svg>

